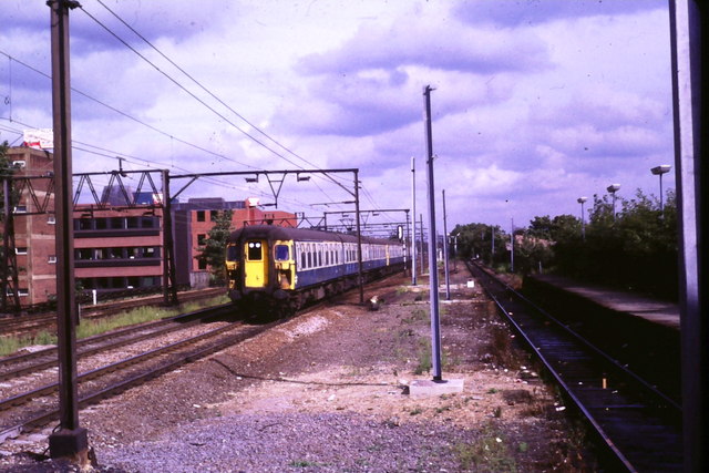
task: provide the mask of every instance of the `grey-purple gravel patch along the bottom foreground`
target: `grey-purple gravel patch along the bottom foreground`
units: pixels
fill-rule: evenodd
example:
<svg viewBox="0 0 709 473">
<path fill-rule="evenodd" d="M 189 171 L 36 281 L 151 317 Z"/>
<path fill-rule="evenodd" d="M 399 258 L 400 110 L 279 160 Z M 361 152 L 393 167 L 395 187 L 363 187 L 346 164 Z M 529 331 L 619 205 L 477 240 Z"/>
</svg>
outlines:
<svg viewBox="0 0 709 473">
<path fill-rule="evenodd" d="M 230 415 L 97 460 L 131 472 L 453 472 L 460 467 L 453 445 L 471 438 L 347 413 Z"/>
</svg>

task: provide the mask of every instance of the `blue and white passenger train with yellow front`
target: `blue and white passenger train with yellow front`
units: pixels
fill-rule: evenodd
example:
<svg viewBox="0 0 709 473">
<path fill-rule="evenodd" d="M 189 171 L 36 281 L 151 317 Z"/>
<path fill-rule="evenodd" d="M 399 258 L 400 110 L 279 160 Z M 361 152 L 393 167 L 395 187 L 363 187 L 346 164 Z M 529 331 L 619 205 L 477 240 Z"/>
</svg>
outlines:
<svg viewBox="0 0 709 473">
<path fill-rule="evenodd" d="M 362 236 L 361 248 L 364 280 L 403 269 L 400 241 Z M 358 239 L 349 234 L 245 226 L 229 235 L 225 264 L 229 299 L 266 317 L 292 315 L 359 284 Z"/>
</svg>

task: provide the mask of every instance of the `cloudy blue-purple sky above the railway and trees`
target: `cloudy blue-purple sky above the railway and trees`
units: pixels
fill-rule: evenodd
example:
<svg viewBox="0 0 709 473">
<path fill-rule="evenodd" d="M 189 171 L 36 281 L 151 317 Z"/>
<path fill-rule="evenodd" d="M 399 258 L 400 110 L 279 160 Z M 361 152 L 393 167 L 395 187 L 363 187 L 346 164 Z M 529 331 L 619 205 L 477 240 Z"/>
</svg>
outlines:
<svg viewBox="0 0 709 473">
<path fill-rule="evenodd" d="M 19 145 L 52 127 L 50 9 L 0 4 L 0 141 Z M 81 0 L 70 48 L 74 173 L 357 168 L 360 207 L 395 210 L 372 224 L 412 209 L 413 157 L 428 227 L 427 85 L 439 234 L 443 204 L 450 232 L 579 217 L 616 183 L 659 198 L 650 168 L 674 163 L 665 0 Z M 353 173 L 270 176 L 179 198 L 281 186 L 280 210 L 353 209 Z"/>
</svg>

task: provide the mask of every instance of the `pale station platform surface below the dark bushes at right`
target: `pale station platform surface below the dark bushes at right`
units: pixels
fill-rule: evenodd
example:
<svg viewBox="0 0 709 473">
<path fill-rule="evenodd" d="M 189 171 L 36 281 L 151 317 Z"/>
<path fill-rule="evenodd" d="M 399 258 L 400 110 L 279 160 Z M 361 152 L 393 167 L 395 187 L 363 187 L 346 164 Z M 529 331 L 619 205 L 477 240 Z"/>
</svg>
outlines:
<svg viewBox="0 0 709 473">
<path fill-rule="evenodd" d="M 624 312 L 679 331 L 679 305 L 629 291 L 578 282 L 561 276 L 527 276 L 532 281 L 556 287 L 606 309 Z M 526 281 L 525 281 L 526 284 Z"/>
</svg>

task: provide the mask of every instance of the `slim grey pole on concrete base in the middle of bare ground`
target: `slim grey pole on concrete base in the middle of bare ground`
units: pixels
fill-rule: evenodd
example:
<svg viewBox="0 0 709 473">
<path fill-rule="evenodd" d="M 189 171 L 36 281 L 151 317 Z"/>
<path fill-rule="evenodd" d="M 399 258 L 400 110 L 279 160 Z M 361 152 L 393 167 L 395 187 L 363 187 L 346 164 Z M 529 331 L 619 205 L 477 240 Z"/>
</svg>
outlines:
<svg viewBox="0 0 709 473">
<path fill-rule="evenodd" d="M 441 321 L 439 315 L 439 271 L 435 264 L 435 194 L 433 186 L 433 133 L 431 131 L 431 86 L 423 89 L 429 197 L 429 286 L 431 302 L 431 361 L 433 381 L 441 381 Z"/>
</svg>

